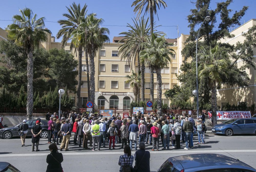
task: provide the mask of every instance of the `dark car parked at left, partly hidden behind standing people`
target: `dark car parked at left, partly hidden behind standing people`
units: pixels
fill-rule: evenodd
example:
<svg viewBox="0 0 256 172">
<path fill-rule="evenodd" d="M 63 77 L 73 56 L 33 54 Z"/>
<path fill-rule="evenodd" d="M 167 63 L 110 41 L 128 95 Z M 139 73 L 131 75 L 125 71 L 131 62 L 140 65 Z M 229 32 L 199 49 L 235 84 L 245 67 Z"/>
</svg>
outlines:
<svg viewBox="0 0 256 172">
<path fill-rule="evenodd" d="M 36 120 L 27 120 L 26 123 L 29 127 L 27 136 L 32 136 L 31 129 L 34 125 L 36 125 Z M 12 137 L 19 136 L 18 128 L 21 124 L 22 123 L 12 127 L 2 128 L 0 130 L 0 138 L 10 139 Z M 48 120 L 41 120 L 40 125 L 42 127 L 42 133 L 40 134 L 41 138 L 48 138 Z"/>
</svg>

